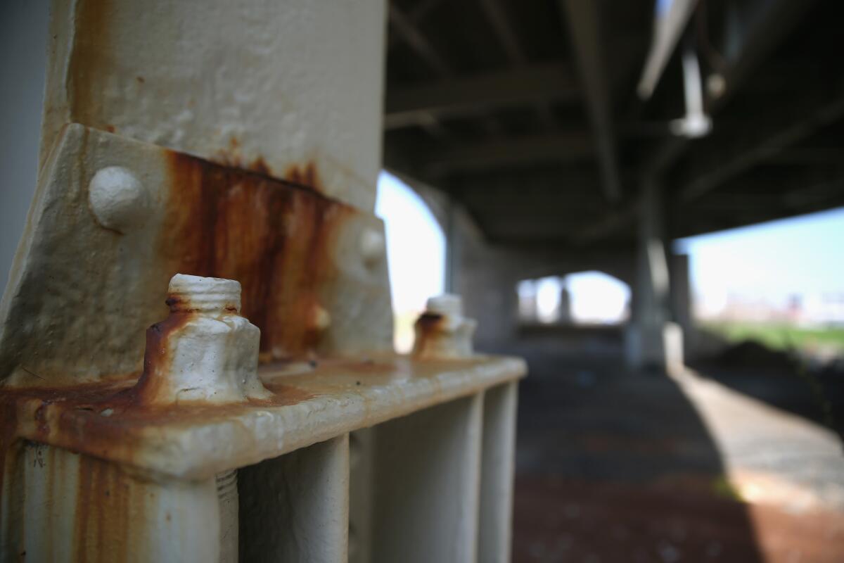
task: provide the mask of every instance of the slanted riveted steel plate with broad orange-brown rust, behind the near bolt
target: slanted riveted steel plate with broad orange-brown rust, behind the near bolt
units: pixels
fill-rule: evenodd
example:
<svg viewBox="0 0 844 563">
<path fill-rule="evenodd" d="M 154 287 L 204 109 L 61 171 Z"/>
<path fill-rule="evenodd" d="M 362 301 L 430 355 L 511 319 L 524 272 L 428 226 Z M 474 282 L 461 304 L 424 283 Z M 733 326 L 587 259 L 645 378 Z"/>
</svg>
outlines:
<svg viewBox="0 0 844 563">
<path fill-rule="evenodd" d="M 146 191 L 149 217 L 125 233 L 101 225 L 89 201 L 92 179 L 115 166 Z M 123 193 L 120 182 L 108 189 Z M 390 350 L 386 259 L 361 242 L 382 231 L 307 187 L 69 125 L 0 302 L 0 382 L 138 376 L 144 331 L 165 317 L 175 273 L 240 281 L 264 361 Z"/>
</svg>

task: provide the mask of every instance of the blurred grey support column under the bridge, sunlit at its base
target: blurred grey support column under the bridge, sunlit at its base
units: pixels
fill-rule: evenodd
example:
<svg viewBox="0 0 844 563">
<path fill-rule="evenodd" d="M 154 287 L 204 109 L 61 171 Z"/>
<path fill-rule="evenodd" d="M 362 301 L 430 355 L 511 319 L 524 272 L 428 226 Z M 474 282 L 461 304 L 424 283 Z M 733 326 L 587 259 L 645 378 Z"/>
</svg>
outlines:
<svg viewBox="0 0 844 563">
<path fill-rule="evenodd" d="M 672 322 L 666 254 L 663 190 L 652 177 L 642 181 L 633 319 L 625 355 L 633 369 L 674 371 L 683 365 L 683 333 Z"/>
</svg>

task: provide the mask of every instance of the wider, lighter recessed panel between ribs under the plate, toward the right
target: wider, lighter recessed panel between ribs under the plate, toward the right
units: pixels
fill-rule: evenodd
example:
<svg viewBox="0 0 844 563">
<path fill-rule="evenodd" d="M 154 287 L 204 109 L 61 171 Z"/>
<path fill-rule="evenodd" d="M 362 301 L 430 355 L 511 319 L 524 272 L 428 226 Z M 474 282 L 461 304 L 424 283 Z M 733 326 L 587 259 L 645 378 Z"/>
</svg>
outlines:
<svg viewBox="0 0 844 563">
<path fill-rule="evenodd" d="M 477 559 L 483 393 L 376 426 L 372 560 Z"/>
</svg>

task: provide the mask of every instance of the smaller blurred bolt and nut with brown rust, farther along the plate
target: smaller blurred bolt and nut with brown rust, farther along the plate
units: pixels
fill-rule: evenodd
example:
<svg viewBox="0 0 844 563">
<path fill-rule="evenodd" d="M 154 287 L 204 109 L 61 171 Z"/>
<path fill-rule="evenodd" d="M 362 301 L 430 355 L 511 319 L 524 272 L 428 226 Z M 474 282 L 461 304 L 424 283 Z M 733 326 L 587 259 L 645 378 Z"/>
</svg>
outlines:
<svg viewBox="0 0 844 563">
<path fill-rule="evenodd" d="M 419 360 L 468 358 L 477 322 L 463 317 L 460 295 L 431 297 L 414 324 L 413 356 Z"/>
</svg>

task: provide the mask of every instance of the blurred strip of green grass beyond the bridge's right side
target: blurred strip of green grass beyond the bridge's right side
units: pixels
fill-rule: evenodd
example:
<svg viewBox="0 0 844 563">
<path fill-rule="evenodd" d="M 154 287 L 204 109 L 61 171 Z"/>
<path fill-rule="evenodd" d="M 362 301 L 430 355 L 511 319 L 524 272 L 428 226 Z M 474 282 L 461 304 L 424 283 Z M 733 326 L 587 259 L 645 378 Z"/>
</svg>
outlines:
<svg viewBox="0 0 844 563">
<path fill-rule="evenodd" d="M 844 352 L 844 328 L 801 328 L 769 322 L 706 322 L 703 328 L 733 343 L 755 340 L 776 350 L 835 349 Z"/>
</svg>

